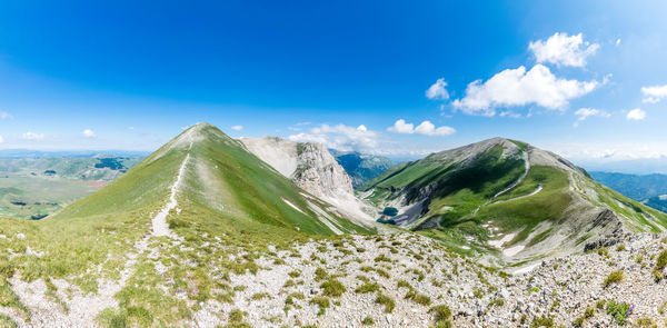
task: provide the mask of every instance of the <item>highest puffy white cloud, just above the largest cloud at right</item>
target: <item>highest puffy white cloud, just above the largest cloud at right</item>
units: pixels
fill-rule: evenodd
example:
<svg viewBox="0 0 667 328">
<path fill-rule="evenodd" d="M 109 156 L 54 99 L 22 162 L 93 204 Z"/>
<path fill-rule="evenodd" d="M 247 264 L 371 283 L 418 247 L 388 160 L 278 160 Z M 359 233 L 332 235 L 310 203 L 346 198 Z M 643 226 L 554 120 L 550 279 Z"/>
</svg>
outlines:
<svg viewBox="0 0 667 328">
<path fill-rule="evenodd" d="M 620 39 L 617 42 L 620 42 Z M 584 41 L 581 33 L 571 37 L 567 33 L 555 33 L 547 41 L 538 40 L 528 44 L 537 62 L 573 67 L 585 67 L 586 58 L 595 54 L 599 48 L 600 44 Z"/>
</svg>

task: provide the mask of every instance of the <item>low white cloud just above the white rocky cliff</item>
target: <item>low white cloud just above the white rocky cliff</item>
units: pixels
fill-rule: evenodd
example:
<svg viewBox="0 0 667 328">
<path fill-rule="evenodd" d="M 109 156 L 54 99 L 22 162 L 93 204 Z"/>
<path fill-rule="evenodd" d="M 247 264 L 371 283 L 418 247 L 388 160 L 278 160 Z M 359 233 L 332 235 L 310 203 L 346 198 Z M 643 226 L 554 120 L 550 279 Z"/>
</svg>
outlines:
<svg viewBox="0 0 667 328">
<path fill-rule="evenodd" d="M 379 132 L 368 130 L 364 125 L 356 128 L 346 125 L 321 125 L 307 132 L 291 135 L 288 139 L 298 142 L 320 142 L 328 148 L 345 151 L 369 151 L 378 146 L 379 137 Z"/>
</svg>

